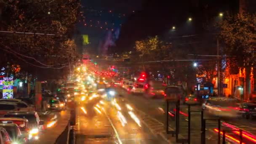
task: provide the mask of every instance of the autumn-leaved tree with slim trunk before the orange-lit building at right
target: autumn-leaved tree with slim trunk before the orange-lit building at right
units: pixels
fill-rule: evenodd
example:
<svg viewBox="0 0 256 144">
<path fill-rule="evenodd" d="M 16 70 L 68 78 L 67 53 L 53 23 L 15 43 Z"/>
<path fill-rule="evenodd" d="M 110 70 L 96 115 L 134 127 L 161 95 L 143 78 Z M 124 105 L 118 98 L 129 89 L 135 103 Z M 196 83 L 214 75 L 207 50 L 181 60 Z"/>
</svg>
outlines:
<svg viewBox="0 0 256 144">
<path fill-rule="evenodd" d="M 219 27 L 224 54 L 232 59 L 230 67 L 245 67 L 245 96 L 248 97 L 251 67 L 256 58 L 256 14 L 228 16 Z"/>
</svg>

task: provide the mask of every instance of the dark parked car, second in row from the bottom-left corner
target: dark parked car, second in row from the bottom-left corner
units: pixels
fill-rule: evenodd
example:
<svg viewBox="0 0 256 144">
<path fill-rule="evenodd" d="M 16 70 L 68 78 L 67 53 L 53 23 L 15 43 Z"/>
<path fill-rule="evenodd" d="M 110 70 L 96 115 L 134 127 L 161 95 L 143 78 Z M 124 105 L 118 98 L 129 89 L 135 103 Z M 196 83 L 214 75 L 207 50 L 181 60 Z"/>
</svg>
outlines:
<svg viewBox="0 0 256 144">
<path fill-rule="evenodd" d="M 23 138 L 19 126 L 15 123 L 1 123 L 0 127 L 5 128 L 7 133 L 10 136 L 10 139 L 13 143 L 24 143 L 26 140 Z"/>
</svg>

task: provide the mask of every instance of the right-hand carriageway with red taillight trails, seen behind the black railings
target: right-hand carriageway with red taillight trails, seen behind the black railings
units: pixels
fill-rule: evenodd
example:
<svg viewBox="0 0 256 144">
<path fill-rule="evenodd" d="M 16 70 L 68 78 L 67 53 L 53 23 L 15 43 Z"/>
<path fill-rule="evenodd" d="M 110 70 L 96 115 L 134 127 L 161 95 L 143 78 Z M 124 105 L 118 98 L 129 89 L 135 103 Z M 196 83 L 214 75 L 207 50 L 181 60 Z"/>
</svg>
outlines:
<svg viewBox="0 0 256 144">
<path fill-rule="evenodd" d="M 122 99 L 123 101 L 130 103 L 131 106 L 136 109 L 139 117 L 142 118 L 143 122 L 148 125 L 148 128 L 154 133 L 163 136 L 169 140 L 169 142 L 175 143 L 175 136 L 167 135 L 164 129 L 165 125 L 165 101 L 164 99 L 149 99 L 139 94 L 129 94 L 124 91 L 122 88 L 117 88 L 119 94 L 122 97 L 118 99 Z M 191 110 L 201 110 L 200 106 L 192 106 Z M 180 127 L 179 127 L 179 139 L 187 139 L 188 138 L 188 107 L 185 105 L 181 105 L 181 113 L 180 113 Z M 204 112 L 204 119 L 218 119 L 219 117 L 212 116 L 208 114 L 207 111 Z M 175 117 L 169 117 L 169 130 L 175 129 Z M 192 112 L 191 113 L 191 144 L 198 144 L 201 141 L 201 115 L 200 112 Z M 218 128 L 218 123 L 215 120 L 207 120 L 206 121 L 206 129 L 205 129 L 205 141 L 206 144 L 216 144 L 218 141 L 218 133 L 216 130 Z M 230 130 L 234 130 L 234 128 L 240 128 L 246 131 L 243 136 L 243 142 L 245 144 L 254 144 L 256 142 L 255 138 L 250 139 L 248 136 L 250 134 L 256 135 L 256 121 L 246 120 L 244 118 L 236 118 L 236 119 L 225 119 L 221 118 L 221 131 L 227 130 L 229 141 L 231 143 L 239 143 L 240 137 L 237 132 L 233 132 Z M 250 136 L 253 138 L 254 136 Z M 222 138 L 222 135 L 221 135 Z M 233 139 L 234 138 L 234 139 Z M 236 141 L 236 142 L 233 142 Z"/>
</svg>

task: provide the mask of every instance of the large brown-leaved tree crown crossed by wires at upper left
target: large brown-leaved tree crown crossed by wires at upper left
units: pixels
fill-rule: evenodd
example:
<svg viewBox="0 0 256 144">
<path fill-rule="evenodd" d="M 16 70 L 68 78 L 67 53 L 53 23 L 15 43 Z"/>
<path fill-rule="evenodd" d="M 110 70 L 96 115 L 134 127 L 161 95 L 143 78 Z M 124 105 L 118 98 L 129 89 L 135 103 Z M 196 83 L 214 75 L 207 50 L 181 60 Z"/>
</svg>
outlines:
<svg viewBox="0 0 256 144">
<path fill-rule="evenodd" d="M 53 68 L 67 64 L 72 56 L 76 56 L 76 46 L 70 37 L 80 14 L 79 8 L 80 0 L 3 0 L 1 30 L 53 34 L 0 33 L 0 49 L 5 52 L 4 56 L 8 56 L 5 60 L 21 64 L 22 58 L 27 61 L 23 61 L 23 65 L 32 63 L 46 67 L 40 64 L 41 62 Z M 16 52 L 15 55 L 14 52 Z M 17 53 L 33 57 L 37 61 Z M 3 64 L 6 61 L 2 61 Z M 31 67 L 27 68 L 26 70 L 30 72 L 34 70 Z"/>
</svg>

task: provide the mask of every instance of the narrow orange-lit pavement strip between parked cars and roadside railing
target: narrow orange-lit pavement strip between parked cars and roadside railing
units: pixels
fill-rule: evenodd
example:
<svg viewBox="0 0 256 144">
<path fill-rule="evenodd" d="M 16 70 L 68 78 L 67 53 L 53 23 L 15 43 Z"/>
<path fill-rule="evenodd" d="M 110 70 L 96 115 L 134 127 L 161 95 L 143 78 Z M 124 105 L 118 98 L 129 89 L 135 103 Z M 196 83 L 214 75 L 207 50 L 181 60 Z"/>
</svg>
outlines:
<svg viewBox="0 0 256 144">
<path fill-rule="evenodd" d="M 55 144 L 58 137 L 65 131 L 70 119 L 70 111 L 61 111 L 58 122 L 52 128 L 48 128 L 41 134 L 37 144 Z"/>
</svg>

